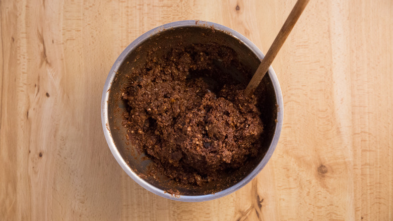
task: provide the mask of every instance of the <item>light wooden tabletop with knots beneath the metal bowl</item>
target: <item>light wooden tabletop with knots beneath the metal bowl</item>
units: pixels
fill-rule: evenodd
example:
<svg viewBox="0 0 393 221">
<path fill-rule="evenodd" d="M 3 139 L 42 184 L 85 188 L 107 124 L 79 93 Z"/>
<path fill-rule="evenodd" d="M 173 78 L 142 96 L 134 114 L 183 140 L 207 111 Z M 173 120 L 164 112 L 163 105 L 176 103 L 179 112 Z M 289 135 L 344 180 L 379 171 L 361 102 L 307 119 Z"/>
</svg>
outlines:
<svg viewBox="0 0 393 221">
<path fill-rule="evenodd" d="M 295 0 L 0 2 L 0 220 L 393 219 L 393 2 L 313 0 L 273 67 L 273 157 L 226 197 L 182 203 L 135 183 L 101 127 L 101 92 L 144 32 L 198 19 L 267 51 Z"/>
</svg>

